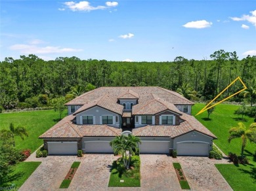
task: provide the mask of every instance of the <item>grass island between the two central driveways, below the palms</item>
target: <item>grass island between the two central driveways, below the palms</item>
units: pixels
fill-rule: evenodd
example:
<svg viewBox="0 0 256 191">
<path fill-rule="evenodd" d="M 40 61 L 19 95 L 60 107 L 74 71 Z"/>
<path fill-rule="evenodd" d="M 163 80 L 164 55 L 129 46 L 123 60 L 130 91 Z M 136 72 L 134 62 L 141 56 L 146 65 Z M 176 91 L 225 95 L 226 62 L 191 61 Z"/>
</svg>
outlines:
<svg viewBox="0 0 256 191">
<path fill-rule="evenodd" d="M 133 175 L 127 173 L 123 168 L 122 161 L 114 161 L 110 174 L 110 181 L 108 183 L 109 187 L 140 187 L 140 157 L 132 156 L 131 165 L 135 165 L 134 169 L 129 169 L 129 173 L 134 171 Z M 131 175 L 131 176 L 129 176 Z M 123 182 L 120 182 L 123 180 Z"/>
</svg>

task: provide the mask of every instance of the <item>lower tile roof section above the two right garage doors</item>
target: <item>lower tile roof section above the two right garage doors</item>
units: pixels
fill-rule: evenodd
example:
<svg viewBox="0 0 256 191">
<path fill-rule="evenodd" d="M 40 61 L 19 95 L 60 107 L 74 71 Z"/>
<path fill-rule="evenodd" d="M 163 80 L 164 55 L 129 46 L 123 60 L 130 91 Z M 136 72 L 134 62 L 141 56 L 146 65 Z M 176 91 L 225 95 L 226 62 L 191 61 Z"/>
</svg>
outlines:
<svg viewBox="0 0 256 191">
<path fill-rule="evenodd" d="M 141 128 L 133 129 L 133 135 L 141 136 L 141 137 L 179 137 L 184 133 L 188 133 L 190 131 L 199 131 L 209 137 L 213 137 L 217 139 L 211 131 L 209 131 L 205 126 L 203 126 L 194 116 L 190 116 L 189 114 L 183 114 L 181 118 L 186 118 L 184 122 L 181 122 L 179 126 L 144 126 Z"/>
</svg>

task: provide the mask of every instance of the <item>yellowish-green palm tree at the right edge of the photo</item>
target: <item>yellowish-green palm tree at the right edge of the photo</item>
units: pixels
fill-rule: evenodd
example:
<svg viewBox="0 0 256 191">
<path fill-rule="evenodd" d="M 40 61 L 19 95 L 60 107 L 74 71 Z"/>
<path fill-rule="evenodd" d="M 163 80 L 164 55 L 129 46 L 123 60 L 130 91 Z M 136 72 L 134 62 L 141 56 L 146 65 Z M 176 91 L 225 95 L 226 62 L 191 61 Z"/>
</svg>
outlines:
<svg viewBox="0 0 256 191">
<path fill-rule="evenodd" d="M 242 122 L 240 122 L 238 123 L 237 127 L 230 128 L 228 132 L 230 133 L 230 136 L 228 137 L 228 143 L 230 143 L 232 139 L 240 137 L 242 138 L 242 157 L 244 156 L 244 148 L 247 144 L 247 140 L 249 139 L 251 142 L 256 143 L 256 123 L 251 124 L 249 126 L 249 129 L 246 129 L 245 125 Z"/>
</svg>

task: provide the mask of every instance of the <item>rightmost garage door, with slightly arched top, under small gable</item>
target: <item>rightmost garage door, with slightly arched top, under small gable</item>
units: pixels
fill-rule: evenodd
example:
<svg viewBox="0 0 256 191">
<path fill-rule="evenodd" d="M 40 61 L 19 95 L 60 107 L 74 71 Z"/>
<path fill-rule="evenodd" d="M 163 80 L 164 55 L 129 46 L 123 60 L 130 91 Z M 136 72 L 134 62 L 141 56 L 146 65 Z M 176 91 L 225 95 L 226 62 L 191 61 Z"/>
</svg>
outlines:
<svg viewBox="0 0 256 191">
<path fill-rule="evenodd" d="M 196 142 L 177 143 L 177 155 L 208 156 L 209 155 L 208 144 L 196 143 Z"/>
</svg>

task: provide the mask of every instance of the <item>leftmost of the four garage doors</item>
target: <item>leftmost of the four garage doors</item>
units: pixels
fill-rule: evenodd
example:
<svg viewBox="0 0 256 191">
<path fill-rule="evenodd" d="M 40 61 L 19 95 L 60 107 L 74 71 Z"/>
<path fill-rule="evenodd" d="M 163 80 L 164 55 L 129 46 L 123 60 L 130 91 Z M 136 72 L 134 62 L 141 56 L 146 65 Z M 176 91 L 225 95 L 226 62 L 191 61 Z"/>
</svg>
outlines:
<svg viewBox="0 0 256 191">
<path fill-rule="evenodd" d="M 47 142 L 49 155 L 75 155 L 77 142 Z"/>
</svg>

